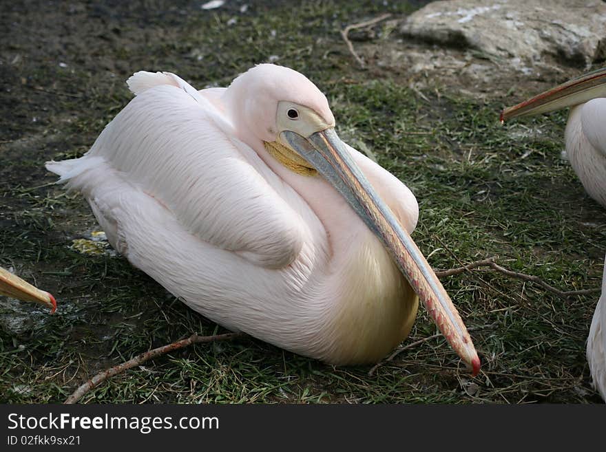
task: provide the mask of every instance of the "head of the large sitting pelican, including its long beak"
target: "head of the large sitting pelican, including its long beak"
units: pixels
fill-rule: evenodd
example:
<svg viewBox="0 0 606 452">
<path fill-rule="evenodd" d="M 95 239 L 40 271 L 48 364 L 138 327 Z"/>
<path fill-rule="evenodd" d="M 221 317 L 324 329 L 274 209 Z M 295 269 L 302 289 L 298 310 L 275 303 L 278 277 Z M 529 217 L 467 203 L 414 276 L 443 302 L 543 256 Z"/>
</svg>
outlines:
<svg viewBox="0 0 606 452">
<path fill-rule="evenodd" d="M 262 140 L 274 158 L 296 173 L 324 177 L 346 199 L 389 250 L 454 351 L 477 374 L 480 360 L 457 308 L 337 136 L 320 89 L 293 69 L 266 64 L 236 78 L 226 94 L 238 125 Z"/>
</svg>

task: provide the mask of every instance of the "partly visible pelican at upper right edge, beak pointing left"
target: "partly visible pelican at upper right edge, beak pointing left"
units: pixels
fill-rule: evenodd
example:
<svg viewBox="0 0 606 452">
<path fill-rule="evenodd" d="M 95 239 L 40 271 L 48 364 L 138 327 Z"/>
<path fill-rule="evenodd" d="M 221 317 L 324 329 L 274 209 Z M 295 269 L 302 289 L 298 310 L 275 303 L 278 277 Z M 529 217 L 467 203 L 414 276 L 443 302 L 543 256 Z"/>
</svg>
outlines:
<svg viewBox="0 0 606 452">
<path fill-rule="evenodd" d="M 564 107 L 571 107 L 565 131 L 568 160 L 589 196 L 606 207 L 606 67 L 504 109 L 501 122 Z"/>
</svg>

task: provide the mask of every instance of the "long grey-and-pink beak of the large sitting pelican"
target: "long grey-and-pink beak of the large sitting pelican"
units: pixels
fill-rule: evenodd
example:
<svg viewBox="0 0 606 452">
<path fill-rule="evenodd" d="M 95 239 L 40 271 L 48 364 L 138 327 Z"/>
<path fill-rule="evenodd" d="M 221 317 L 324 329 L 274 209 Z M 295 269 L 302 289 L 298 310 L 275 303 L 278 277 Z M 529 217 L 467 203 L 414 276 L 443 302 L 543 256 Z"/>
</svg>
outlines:
<svg viewBox="0 0 606 452">
<path fill-rule="evenodd" d="M 472 369 L 473 375 L 477 375 L 480 359 L 457 308 L 415 242 L 355 164 L 335 129 L 316 132 L 307 138 L 283 131 L 280 139 L 313 164 L 382 240 L 450 346 Z"/>
</svg>

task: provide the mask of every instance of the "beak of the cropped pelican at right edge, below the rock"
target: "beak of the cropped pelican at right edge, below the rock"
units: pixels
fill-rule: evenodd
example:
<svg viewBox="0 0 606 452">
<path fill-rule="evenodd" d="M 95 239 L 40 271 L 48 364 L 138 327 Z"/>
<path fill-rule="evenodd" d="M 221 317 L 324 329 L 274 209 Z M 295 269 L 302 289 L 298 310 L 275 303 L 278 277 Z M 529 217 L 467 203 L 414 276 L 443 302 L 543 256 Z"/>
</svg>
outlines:
<svg viewBox="0 0 606 452">
<path fill-rule="evenodd" d="M 606 67 L 558 85 L 501 111 L 501 122 L 517 116 L 537 115 L 606 97 Z"/>
</svg>

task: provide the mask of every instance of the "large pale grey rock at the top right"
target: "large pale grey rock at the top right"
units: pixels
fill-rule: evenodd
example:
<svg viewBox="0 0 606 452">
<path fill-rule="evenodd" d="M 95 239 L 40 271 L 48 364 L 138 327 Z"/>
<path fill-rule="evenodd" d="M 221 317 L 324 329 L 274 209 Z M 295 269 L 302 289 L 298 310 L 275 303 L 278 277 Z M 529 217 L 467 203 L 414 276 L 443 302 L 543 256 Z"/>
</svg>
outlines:
<svg viewBox="0 0 606 452">
<path fill-rule="evenodd" d="M 545 56 L 583 69 L 606 54 L 601 0 L 435 1 L 401 25 L 405 36 L 508 58 L 529 71 Z"/>
</svg>

